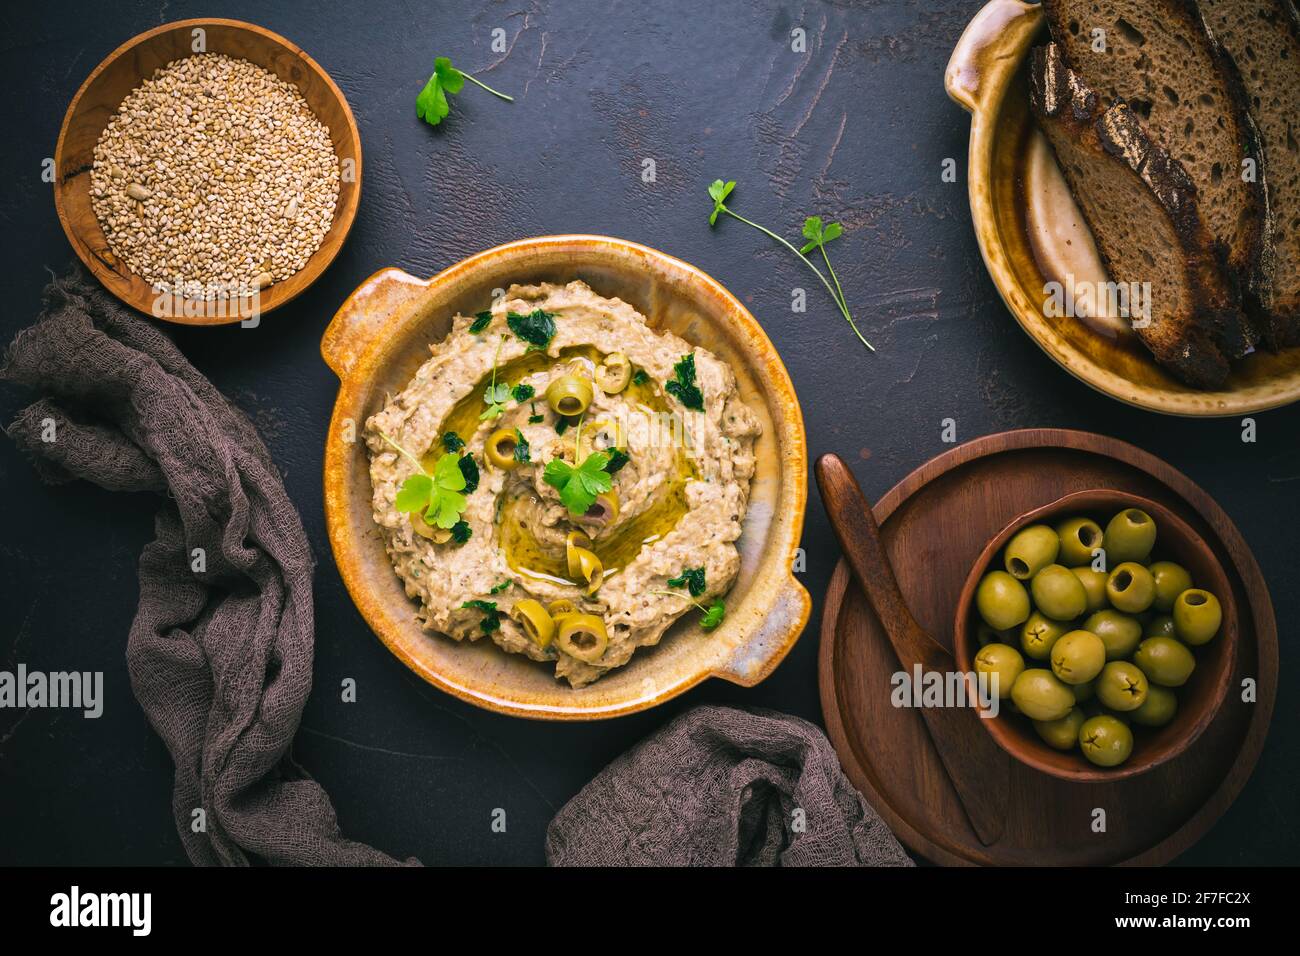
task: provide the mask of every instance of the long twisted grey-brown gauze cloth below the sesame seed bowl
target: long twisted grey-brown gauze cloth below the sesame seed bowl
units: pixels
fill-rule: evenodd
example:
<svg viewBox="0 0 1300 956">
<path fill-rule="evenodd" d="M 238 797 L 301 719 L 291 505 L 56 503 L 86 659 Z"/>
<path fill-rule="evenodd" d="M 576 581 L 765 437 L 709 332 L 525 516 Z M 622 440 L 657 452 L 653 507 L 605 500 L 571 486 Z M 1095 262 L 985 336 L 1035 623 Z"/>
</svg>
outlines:
<svg viewBox="0 0 1300 956">
<path fill-rule="evenodd" d="M 339 835 L 329 796 L 289 754 L 312 683 L 312 555 L 248 419 L 81 276 L 47 289 L 0 378 L 46 395 L 8 429 L 44 480 L 160 496 L 126 661 L 176 761 L 190 860 L 395 862 Z M 205 570 L 191 567 L 196 549 Z"/>
</svg>

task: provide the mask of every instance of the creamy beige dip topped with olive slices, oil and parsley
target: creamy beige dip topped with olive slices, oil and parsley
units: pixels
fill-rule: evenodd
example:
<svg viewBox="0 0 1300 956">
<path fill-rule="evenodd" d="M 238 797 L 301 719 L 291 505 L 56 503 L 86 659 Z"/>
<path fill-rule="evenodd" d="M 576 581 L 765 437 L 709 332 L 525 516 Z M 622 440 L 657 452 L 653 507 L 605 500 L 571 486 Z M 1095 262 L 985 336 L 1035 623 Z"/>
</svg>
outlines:
<svg viewBox="0 0 1300 956">
<path fill-rule="evenodd" d="M 424 630 L 582 687 L 722 622 L 762 431 L 725 363 L 584 282 L 511 286 L 430 351 L 365 425 Z"/>
</svg>

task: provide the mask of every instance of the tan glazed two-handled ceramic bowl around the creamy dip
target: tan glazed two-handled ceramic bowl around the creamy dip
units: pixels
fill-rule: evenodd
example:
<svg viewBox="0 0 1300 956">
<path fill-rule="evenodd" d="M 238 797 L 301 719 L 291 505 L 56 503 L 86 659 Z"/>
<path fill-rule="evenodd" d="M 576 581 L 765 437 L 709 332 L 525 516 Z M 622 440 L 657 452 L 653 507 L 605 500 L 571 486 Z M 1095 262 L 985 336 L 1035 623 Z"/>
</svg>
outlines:
<svg viewBox="0 0 1300 956">
<path fill-rule="evenodd" d="M 373 519 L 365 420 L 406 388 L 458 312 L 486 308 L 512 284 L 582 280 L 641 312 L 650 328 L 710 350 L 734 372 L 762 434 L 749 510 L 736 542 L 741 570 L 727 618 L 703 632 L 686 615 L 623 667 L 575 689 L 552 667 L 489 640 L 422 631 L 416 605 Z M 645 246 L 597 235 L 523 239 L 473 255 L 433 278 L 382 269 L 343 303 L 321 341 L 339 377 L 325 444 L 325 518 L 343 583 L 380 640 L 447 693 L 498 713 L 551 721 L 618 717 L 662 704 L 707 678 L 763 680 L 807 623 L 811 600 L 793 567 L 807 497 L 803 418 L 780 356 L 749 311 L 699 269 Z"/>
</svg>

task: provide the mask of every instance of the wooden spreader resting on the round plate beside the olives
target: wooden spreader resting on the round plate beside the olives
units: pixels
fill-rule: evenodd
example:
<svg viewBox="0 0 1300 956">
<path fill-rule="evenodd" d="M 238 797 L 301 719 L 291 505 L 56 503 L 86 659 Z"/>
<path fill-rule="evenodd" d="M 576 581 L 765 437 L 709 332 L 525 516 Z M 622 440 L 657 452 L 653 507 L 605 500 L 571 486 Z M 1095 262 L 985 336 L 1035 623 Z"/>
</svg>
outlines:
<svg viewBox="0 0 1300 956">
<path fill-rule="evenodd" d="M 952 653 L 922 631 L 907 610 L 880 542 L 876 518 L 853 472 L 838 455 L 822 455 L 815 471 L 831 527 L 904 670 L 911 674 L 919 663 L 923 671 L 954 672 Z M 880 693 L 889 691 L 881 676 Z M 982 718 L 974 708 L 920 708 L 920 715 L 975 835 L 985 847 L 997 843 L 1006 819 L 1006 753 L 979 726 Z"/>
</svg>

